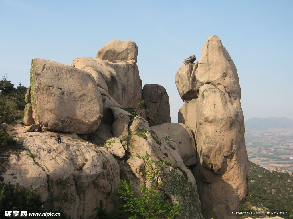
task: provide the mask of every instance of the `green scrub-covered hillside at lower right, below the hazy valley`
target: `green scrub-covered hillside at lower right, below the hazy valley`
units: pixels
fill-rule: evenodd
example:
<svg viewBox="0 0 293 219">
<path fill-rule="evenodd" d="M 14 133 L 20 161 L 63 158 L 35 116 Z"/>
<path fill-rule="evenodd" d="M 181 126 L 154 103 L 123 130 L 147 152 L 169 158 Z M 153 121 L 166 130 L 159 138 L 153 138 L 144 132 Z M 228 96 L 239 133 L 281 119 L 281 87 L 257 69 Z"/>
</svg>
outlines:
<svg viewBox="0 0 293 219">
<path fill-rule="evenodd" d="M 293 177 L 288 173 L 270 172 L 252 162 L 249 164 L 251 189 L 249 196 L 241 204 L 240 211 L 252 212 L 253 206 L 265 207 L 270 212 L 287 212 L 287 215 L 279 216 L 290 218 L 293 213 Z"/>
</svg>

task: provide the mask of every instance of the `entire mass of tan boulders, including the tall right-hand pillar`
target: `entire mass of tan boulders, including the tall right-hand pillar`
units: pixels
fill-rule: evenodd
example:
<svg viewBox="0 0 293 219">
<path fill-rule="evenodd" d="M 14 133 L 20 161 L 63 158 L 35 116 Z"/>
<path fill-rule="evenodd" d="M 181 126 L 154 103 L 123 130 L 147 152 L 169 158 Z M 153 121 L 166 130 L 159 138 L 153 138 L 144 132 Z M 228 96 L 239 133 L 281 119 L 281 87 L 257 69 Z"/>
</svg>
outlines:
<svg viewBox="0 0 293 219">
<path fill-rule="evenodd" d="M 121 179 L 163 191 L 180 203 L 178 218 L 226 218 L 249 188 L 241 90 L 229 57 L 212 36 L 199 62 L 185 60 L 176 74 L 180 123 L 171 123 L 165 88 L 142 89 L 133 41 L 111 41 L 71 66 L 33 59 L 24 124 L 43 132 L 13 127 L 26 151 L 11 154 L 4 182 L 32 185 L 72 218 L 95 218 L 100 201 L 117 211 Z M 141 100 L 156 123 L 130 113 Z"/>
</svg>

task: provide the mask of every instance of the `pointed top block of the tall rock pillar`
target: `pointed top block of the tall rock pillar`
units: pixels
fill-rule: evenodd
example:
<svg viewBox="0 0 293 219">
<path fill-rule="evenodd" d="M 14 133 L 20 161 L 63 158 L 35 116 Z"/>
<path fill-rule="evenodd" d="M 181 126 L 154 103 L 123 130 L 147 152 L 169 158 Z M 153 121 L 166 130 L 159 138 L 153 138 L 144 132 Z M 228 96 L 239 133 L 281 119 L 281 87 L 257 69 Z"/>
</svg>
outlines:
<svg viewBox="0 0 293 219">
<path fill-rule="evenodd" d="M 205 41 L 195 75 L 197 90 L 203 84 L 222 84 L 233 101 L 240 99 L 237 69 L 219 37 L 210 36 Z"/>
</svg>

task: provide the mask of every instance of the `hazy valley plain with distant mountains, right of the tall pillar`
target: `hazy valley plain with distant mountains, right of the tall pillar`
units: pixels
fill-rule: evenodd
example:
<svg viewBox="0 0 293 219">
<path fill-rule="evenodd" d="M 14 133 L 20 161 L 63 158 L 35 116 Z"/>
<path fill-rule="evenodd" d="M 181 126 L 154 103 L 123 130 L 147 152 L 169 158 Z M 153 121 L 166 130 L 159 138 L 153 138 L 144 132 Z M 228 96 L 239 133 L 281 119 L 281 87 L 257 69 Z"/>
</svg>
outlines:
<svg viewBox="0 0 293 219">
<path fill-rule="evenodd" d="M 248 159 L 261 166 L 293 170 L 293 121 L 283 118 L 253 118 L 245 122 Z"/>
</svg>

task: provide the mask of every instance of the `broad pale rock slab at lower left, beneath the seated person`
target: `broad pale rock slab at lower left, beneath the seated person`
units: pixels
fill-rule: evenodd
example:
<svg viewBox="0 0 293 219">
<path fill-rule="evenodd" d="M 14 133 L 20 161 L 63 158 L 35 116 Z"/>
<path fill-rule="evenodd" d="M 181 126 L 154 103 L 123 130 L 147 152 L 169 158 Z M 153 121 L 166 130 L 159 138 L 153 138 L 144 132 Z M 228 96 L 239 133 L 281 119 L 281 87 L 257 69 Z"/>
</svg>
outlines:
<svg viewBox="0 0 293 219">
<path fill-rule="evenodd" d="M 43 201 L 59 197 L 55 207 L 59 205 L 72 218 L 94 218 L 100 200 L 107 211 L 117 209 L 120 169 L 105 147 L 84 142 L 76 134 L 62 134 L 62 143 L 57 144 L 56 133 L 16 132 L 35 158 L 27 151 L 11 154 L 9 168 L 2 175 L 4 183 L 27 189 L 32 185 Z"/>
</svg>

